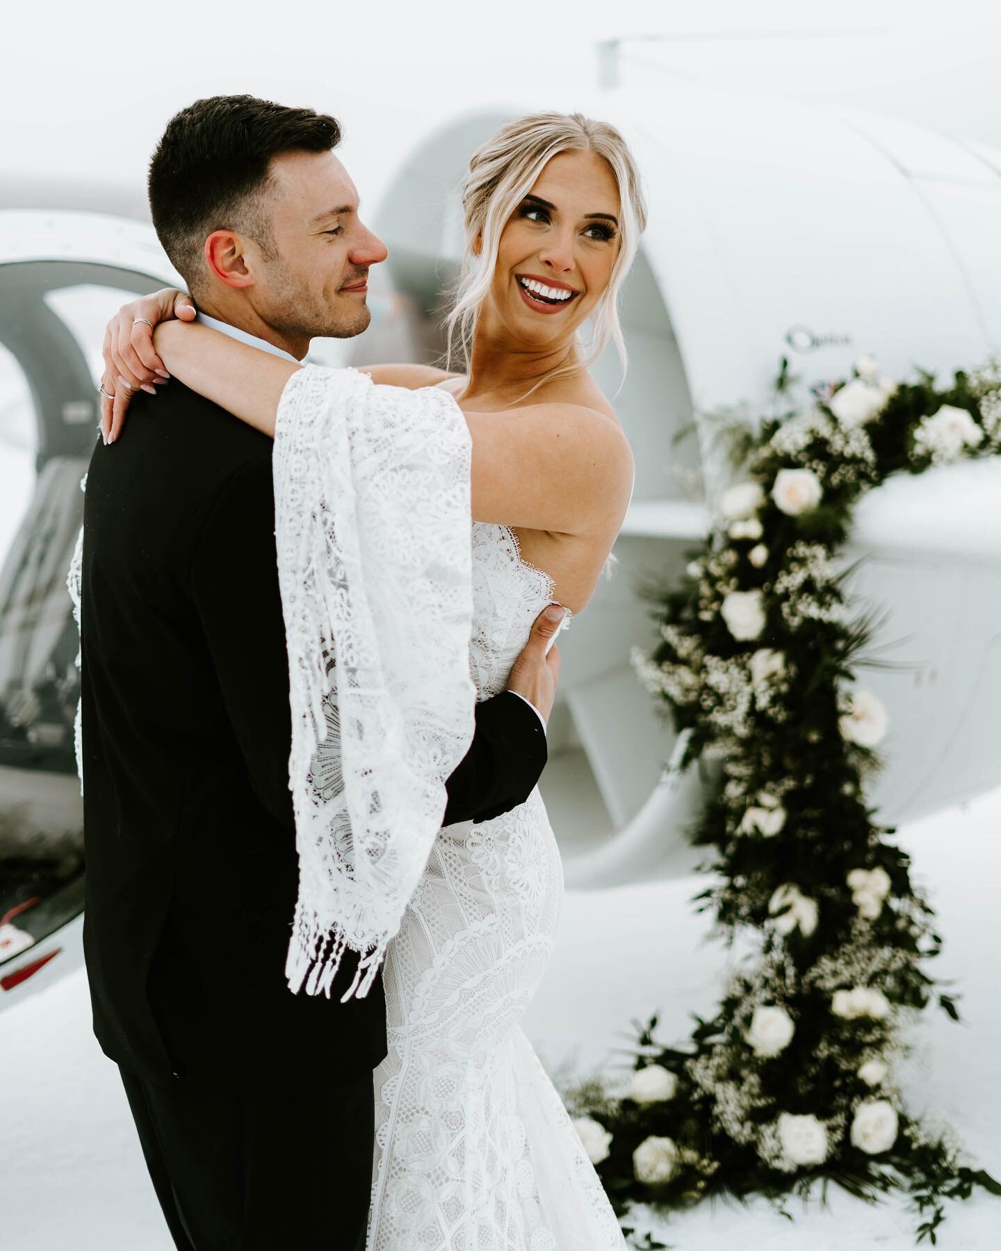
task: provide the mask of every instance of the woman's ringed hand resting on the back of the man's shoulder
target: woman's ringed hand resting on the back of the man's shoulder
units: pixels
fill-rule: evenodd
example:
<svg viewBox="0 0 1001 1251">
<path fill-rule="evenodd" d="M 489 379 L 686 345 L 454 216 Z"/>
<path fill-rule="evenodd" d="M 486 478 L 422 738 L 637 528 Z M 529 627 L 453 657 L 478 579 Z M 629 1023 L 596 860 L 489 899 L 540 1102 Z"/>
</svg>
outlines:
<svg viewBox="0 0 1001 1251">
<path fill-rule="evenodd" d="M 165 286 L 153 295 L 143 295 L 123 304 L 104 332 L 104 377 L 101 378 L 101 435 L 109 442 L 111 427 L 115 432 L 125 420 L 125 410 L 135 388 L 151 395 L 155 384 L 165 383 L 166 372 L 153 347 L 153 328 L 158 322 L 179 318 L 193 322 L 195 305 L 186 291 Z M 149 324 L 146 324 L 149 323 Z"/>
</svg>

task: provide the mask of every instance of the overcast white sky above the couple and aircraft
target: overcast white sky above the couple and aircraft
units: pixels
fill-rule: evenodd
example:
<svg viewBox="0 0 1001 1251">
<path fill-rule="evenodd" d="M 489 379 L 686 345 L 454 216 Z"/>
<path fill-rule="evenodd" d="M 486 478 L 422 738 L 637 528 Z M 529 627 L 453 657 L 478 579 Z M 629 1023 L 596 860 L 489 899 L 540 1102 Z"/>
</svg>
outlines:
<svg viewBox="0 0 1001 1251">
<path fill-rule="evenodd" d="M 572 105 L 603 39 L 624 40 L 627 84 L 683 75 L 837 100 L 1001 146 L 993 0 L 19 0 L 0 21 L 0 180 L 141 193 L 176 109 L 250 91 L 334 113 L 374 205 L 434 123 L 478 103 Z M 647 35 L 668 38 L 632 38 Z"/>
</svg>

